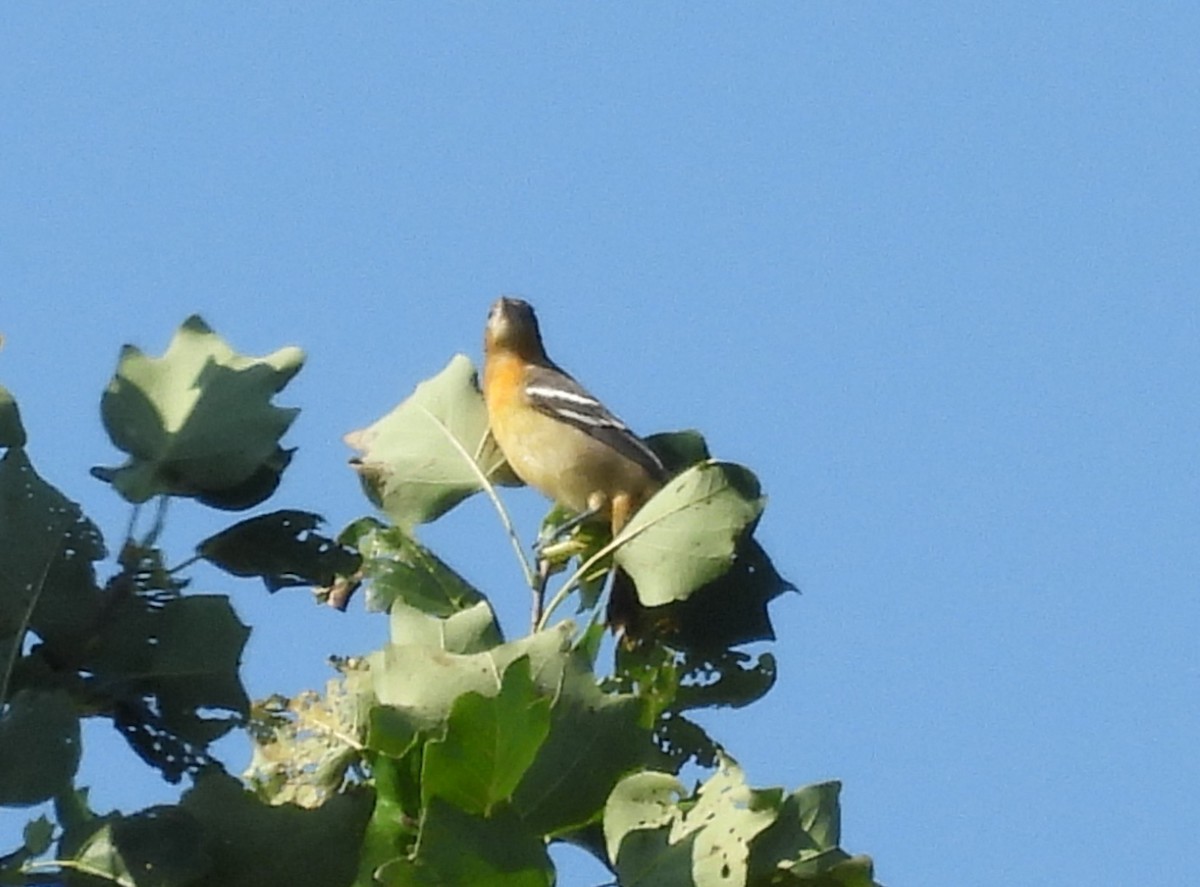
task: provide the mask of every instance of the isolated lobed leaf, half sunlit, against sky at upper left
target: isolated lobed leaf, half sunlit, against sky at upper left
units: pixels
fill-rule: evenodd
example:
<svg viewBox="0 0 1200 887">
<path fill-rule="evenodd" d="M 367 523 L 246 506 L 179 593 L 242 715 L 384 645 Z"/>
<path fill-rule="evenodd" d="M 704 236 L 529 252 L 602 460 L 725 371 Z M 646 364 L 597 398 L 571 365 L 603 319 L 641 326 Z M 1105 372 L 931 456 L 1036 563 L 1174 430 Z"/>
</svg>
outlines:
<svg viewBox="0 0 1200 887">
<path fill-rule="evenodd" d="M 197 316 L 161 358 L 126 346 L 101 414 L 130 459 L 92 473 L 134 503 L 158 495 L 228 509 L 262 502 L 288 462 L 278 440 L 299 412 L 270 401 L 302 364 L 299 348 L 240 355 Z"/>
</svg>

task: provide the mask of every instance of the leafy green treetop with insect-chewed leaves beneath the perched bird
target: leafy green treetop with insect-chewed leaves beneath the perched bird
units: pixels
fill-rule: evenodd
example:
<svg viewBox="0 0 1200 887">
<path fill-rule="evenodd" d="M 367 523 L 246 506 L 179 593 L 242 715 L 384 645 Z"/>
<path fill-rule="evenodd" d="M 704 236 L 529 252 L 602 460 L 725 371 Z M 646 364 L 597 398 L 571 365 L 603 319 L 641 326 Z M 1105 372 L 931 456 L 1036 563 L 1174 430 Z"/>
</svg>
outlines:
<svg viewBox="0 0 1200 887">
<path fill-rule="evenodd" d="M 757 480 L 696 432 L 650 438 L 673 479 L 618 538 L 560 533 L 570 515 L 552 510 L 530 563 L 497 489 L 516 481 L 456 356 L 348 436 L 385 519 L 326 537 L 314 513 L 258 514 L 168 567 L 167 502 L 245 511 L 274 493 L 298 410 L 272 400 L 302 360 L 240 355 L 198 317 L 161 358 L 122 350 L 101 406 L 128 459 L 94 474 L 152 515 L 140 534 L 131 521 L 104 581 L 100 529 L 36 473 L 0 388 L 0 804 L 54 811 L 0 856 L 0 883 L 550 885 L 551 841 L 594 853 L 626 887 L 874 883 L 870 861 L 839 846 L 838 784 L 751 789 L 689 717 L 772 688 L 773 657 L 742 647 L 773 639 L 768 604 L 790 588 L 754 538 Z M 414 534 L 480 492 L 530 588 L 558 582 L 514 640 Z M 200 558 L 338 607 L 361 589 L 390 641 L 340 660 L 322 693 L 251 703 L 250 629 L 224 595 L 186 592 Z M 598 669 L 614 563 L 648 630 Z M 570 598 L 580 619 L 556 619 Z M 91 810 L 74 781 L 83 718 L 110 720 L 164 779 L 186 777 L 180 802 Z M 241 780 L 209 750 L 235 729 L 256 749 Z M 688 765 L 709 773 L 694 791 Z"/>
</svg>

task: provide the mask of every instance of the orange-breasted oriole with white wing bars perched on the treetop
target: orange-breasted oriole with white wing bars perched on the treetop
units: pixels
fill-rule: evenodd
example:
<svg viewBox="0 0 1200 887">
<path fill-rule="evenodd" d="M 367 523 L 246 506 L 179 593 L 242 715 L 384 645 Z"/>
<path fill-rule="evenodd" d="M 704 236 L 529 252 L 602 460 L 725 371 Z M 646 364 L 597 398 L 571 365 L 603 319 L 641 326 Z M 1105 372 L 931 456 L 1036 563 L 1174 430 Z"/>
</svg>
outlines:
<svg viewBox="0 0 1200 887">
<path fill-rule="evenodd" d="M 502 298 L 487 314 L 484 397 L 514 473 L 581 520 L 607 521 L 613 535 L 666 480 L 654 451 L 550 359 L 533 307 L 521 299 Z M 610 622 L 630 621 L 632 593 L 618 571 Z"/>
</svg>

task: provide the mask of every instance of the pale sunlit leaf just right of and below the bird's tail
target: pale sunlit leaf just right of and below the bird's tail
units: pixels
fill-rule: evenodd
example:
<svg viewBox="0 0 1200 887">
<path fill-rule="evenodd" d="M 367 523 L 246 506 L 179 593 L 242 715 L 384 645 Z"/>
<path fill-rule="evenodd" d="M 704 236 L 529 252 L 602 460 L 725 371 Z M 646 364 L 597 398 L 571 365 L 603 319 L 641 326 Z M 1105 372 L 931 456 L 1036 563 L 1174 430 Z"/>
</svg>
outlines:
<svg viewBox="0 0 1200 887">
<path fill-rule="evenodd" d="M 613 558 L 646 606 L 685 600 L 725 574 L 766 499 L 742 466 L 703 462 L 673 478 L 614 540 Z"/>
</svg>

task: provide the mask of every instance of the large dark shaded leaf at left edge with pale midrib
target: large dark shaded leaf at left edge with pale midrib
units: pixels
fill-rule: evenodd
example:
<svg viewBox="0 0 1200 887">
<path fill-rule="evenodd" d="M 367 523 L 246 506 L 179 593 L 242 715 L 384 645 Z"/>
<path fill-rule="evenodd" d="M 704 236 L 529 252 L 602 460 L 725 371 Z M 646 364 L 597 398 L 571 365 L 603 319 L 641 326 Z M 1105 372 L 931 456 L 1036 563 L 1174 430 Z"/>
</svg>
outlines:
<svg viewBox="0 0 1200 887">
<path fill-rule="evenodd" d="M 73 655 L 98 616 L 92 562 L 102 557 L 95 525 L 37 475 L 24 450 L 10 449 L 0 460 L 0 647 L 11 652 L 32 629 Z"/>
</svg>

